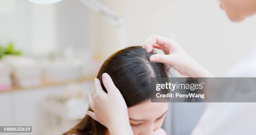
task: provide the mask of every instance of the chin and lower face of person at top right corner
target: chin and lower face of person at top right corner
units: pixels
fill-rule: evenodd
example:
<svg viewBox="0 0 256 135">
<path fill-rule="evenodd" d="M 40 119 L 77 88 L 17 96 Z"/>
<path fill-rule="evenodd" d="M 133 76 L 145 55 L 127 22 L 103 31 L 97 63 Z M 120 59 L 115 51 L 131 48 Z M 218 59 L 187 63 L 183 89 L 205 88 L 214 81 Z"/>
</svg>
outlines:
<svg viewBox="0 0 256 135">
<path fill-rule="evenodd" d="M 238 22 L 256 13 L 256 0 L 219 0 L 228 18 Z"/>
</svg>

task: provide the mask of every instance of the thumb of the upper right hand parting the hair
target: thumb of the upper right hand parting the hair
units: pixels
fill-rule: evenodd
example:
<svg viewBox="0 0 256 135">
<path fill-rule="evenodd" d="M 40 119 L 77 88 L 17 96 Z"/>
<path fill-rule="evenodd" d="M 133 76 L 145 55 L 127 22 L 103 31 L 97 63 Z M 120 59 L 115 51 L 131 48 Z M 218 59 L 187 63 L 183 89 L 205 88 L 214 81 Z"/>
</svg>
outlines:
<svg viewBox="0 0 256 135">
<path fill-rule="evenodd" d="M 149 60 L 152 61 L 152 62 L 168 64 L 170 66 L 172 65 L 172 56 L 171 55 L 153 54 L 153 55 L 150 56 Z"/>
</svg>

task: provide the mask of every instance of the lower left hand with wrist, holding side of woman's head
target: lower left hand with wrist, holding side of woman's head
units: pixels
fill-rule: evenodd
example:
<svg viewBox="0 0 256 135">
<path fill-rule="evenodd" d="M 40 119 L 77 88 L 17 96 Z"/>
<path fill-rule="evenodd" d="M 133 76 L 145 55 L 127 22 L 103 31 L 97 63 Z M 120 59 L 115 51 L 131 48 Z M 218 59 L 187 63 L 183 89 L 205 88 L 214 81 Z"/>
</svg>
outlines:
<svg viewBox="0 0 256 135">
<path fill-rule="evenodd" d="M 103 91 L 99 79 L 94 81 L 92 94 L 87 94 L 93 112 L 87 111 L 87 115 L 107 127 L 110 135 L 133 135 L 127 105 L 111 77 L 107 73 L 102 74 L 102 81 L 108 93 Z"/>
</svg>

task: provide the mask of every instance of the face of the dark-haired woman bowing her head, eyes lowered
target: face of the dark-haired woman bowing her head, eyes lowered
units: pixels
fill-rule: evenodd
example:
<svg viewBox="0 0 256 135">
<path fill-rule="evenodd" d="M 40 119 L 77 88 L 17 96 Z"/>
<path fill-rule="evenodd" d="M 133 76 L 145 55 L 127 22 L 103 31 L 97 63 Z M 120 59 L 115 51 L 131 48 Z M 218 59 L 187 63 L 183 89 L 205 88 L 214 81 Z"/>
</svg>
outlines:
<svg viewBox="0 0 256 135">
<path fill-rule="evenodd" d="M 163 121 L 168 103 L 151 103 L 146 100 L 128 108 L 130 124 L 134 135 L 154 135 Z"/>
</svg>

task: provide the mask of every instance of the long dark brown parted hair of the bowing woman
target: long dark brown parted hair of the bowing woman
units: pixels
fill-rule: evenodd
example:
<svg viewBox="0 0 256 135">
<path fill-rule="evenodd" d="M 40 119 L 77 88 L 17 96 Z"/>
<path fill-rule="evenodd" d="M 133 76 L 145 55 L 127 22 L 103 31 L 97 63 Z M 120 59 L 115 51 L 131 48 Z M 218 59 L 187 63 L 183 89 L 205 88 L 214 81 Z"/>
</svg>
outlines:
<svg viewBox="0 0 256 135">
<path fill-rule="evenodd" d="M 112 54 L 101 66 L 97 78 L 101 86 L 102 74 L 108 73 L 119 89 L 127 107 L 131 107 L 151 98 L 151 77 L 167 77 L 164 64 L 149 61 L 154 51 L 146 53 L 142 46 L 131 46 Z M 92 111 L 89 108 L 90 111 Z M 107 128 L 90 116 L 85 117 L 66 134 L 104 135 Z"/>
</svg>

